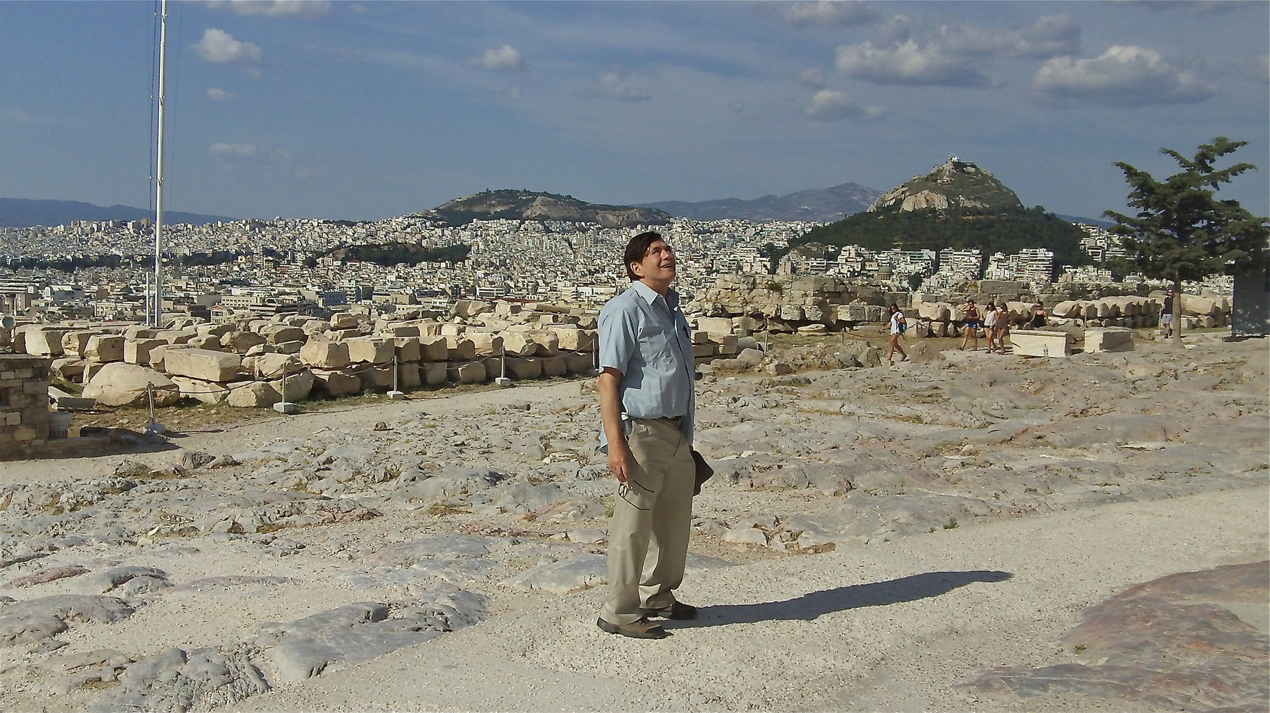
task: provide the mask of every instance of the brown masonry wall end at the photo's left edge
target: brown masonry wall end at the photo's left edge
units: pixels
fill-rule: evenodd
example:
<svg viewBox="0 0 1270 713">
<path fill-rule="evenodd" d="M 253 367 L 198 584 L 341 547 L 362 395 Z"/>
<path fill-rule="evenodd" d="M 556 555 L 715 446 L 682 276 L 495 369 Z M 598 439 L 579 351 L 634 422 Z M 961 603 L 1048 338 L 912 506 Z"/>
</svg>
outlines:
<svg viewBox="0 0 1270 713">
<path fill-rule="evenodd" d="M 0 459 L 43 454 L 51 362 L 47 356 L 0 354 Z"/>
</svg>

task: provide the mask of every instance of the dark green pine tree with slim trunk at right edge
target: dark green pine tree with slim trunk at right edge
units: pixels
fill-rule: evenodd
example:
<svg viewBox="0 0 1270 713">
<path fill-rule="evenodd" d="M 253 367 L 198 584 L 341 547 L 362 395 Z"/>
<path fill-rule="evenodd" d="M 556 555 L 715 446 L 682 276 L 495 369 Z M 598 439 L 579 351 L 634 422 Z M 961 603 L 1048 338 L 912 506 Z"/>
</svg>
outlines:
<svg viewBox="0 0 1270 713">
<path fill-rule="evenodd" d="M 1172 282 L 1175 343 L 1181 340 L 1182 280 L 1238 270 L 1265 259 L 1267 218 L 1253 216 L 1238 200 L 1215 197 L 1222 184 L 1256 169 L 1252 164 L 1224 169 L 1214 165 L 1246 145 L 1219 136 L 1201 145 L 1194 159 L 1161 148 L 1182 167 L 1163 181 L 1116 162 L 1130 186 L 1128 204 L 1138 212 L 1130 217 L 1106 211 L 1104 216 L 1116 222 L 1111 232 L 1123 236 L 1135 269 L 1148 278 Z"/>
</svg>

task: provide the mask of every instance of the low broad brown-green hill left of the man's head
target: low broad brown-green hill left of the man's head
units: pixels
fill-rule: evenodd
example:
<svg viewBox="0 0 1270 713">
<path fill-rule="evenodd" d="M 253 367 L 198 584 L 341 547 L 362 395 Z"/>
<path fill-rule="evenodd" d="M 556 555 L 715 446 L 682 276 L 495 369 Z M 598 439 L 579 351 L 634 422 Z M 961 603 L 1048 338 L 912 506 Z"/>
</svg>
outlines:
<svg viewBox="0 0 1270 713">
<path fill-rule="evenodd" d="M 464 226 L 474 219 L 594 222 L 603 227 L 653 226 L 671 222 L 671 216 L 634 206 L 599 206 L 572 195 L 532 190 L 485 190 L 418 213 L 446 226 Z"/>
</svg>

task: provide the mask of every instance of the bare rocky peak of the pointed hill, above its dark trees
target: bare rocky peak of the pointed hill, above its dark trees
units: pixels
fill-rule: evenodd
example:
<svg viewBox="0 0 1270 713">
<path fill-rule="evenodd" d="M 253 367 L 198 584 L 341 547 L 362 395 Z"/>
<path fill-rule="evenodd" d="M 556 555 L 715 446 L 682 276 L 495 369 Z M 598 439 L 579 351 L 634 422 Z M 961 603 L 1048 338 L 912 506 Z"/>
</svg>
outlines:
<svg viewBox="0 0 1270 713">
<path fill-rule="evenodd" d="M 935 166 L 926 175 L 913 176 L 907 183 L 881 194 L 870 213 L 900 211 L 947 211 L 951 208 L 986 208 L 992 211 L 1022 211 L 1024 204 L 1013 190 L 970 161 L 949 156 L 946 164 Z"/>
</svg>

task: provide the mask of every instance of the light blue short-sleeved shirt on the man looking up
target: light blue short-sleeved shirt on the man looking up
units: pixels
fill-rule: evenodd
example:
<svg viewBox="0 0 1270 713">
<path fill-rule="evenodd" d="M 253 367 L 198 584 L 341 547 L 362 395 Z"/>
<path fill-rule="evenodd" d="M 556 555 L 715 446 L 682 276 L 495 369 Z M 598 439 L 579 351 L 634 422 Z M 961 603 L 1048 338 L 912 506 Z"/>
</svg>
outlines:
<svg viewBox="0 0 1270 713">
<path fill-rule="evenodd" d="M 610 299 L 599 311 L 599 368 L 622 373 L 622 419 L 683 416 L 683 434 L 692 443 L 692 337 L 677 292 L 662 297 L 635 280 Z M 599 443 L 608 444 L 605 429 Z"/>
</svg>

